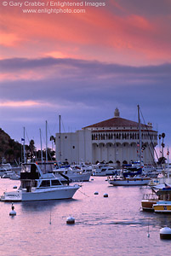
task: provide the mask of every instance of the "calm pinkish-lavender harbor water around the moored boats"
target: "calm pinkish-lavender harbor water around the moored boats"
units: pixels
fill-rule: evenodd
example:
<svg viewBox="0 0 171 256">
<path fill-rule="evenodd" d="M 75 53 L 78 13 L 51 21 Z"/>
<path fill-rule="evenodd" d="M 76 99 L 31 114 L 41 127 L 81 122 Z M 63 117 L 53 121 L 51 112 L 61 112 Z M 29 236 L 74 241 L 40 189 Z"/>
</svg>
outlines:
<svg viewBox="0 0 171 256">
<path fill-rule="evenodd" d="M 0 179 L 0 194 L 19 184 Z M 0 202 L 0 255 L 168 256 L 171 240 L 161 240 L 159 231 L 165 225 L 171 228 L 171 215 L 140 211 L 147 190 L 113 187 L 105 177 L 94 177 L 72 200 L 15 203 L 14 217 L 9 216 L 11 203 Z M 66 224 L 69 216 L 76 224 Z"/>
</svg>

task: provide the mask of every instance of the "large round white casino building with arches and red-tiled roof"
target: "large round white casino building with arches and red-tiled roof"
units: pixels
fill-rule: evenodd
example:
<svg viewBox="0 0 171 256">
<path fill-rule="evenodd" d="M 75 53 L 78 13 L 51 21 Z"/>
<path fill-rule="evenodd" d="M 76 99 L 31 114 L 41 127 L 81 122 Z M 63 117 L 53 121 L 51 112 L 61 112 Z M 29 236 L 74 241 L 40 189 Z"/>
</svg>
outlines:
<svg viewBox="0 0 171 256">
<path fill-rule="evenodd" d="M 141 132 L 139 132 L 141 131 Z M 56 159 L 95 164 L 106 161 L 122 166 L 131 160 L 141 159 L 145 164 L 154 162 L 154 148 L 157 146 L 157 131 L 151 123 L 140 125 L 120 117 L 116 108 L 114 117 L 76 132 L 56 134 Z"/>
</svg>

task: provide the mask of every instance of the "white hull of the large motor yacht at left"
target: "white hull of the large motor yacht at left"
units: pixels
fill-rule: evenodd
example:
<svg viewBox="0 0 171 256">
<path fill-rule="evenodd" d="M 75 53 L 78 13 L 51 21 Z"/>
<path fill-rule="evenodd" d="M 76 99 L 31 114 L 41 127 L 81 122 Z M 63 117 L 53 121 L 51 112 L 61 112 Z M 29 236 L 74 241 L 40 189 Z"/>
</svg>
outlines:
<svg viewBox="0 0 171 256">
<path fill-rule="evenodd" d="M 14 191 L 5 192 L 1 201 L 47 201 L 72 198 L 79 186 L 70 186 L 58 189 L 36 189 L 32 192 Z"/>
</svg>

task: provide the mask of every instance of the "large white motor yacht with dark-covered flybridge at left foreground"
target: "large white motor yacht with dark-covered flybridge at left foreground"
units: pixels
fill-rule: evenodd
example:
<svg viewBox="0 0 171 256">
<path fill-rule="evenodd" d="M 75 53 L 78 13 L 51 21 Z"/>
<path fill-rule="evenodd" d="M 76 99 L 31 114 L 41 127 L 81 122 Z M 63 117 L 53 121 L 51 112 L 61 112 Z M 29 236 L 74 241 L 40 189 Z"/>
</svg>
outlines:
<svg viewBox="0 0 171 256">
<path fill-rule="evenodd" d="M 20 172 L 20 188 L 4 192 L 1 201 L 43 201 L 72 198 L 80 186 L 66 185 L 53 173 L 43 173 L 37 163 L 23 164 Z"/>
</svg>

